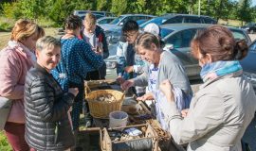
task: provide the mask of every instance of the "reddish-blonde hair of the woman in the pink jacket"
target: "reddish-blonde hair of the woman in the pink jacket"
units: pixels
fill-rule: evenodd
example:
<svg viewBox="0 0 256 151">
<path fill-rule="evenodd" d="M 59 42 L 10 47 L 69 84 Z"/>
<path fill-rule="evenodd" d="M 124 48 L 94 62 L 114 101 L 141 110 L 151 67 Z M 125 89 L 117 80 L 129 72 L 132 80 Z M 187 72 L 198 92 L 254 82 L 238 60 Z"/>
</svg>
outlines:
<svg viewBox="0 0 256 151">
<path fill-rule="evenodd" d="M 20 19 L 12 28 L 10 40 L 21 42 L 34 34 L 36 34 L 36 38 L 39 39 L 45 36 L 45 30 L 31 21 Z"/>
</svg>

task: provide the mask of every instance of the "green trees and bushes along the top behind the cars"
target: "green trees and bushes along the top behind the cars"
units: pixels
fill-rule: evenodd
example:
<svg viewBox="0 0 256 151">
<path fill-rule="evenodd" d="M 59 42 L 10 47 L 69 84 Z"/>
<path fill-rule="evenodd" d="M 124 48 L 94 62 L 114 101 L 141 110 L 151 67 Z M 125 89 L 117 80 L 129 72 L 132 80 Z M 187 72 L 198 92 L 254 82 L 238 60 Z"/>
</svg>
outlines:
<svg viewBox="0 0 256 151">
<path fill-rule="evenodd" d="M 124 13 L 198 14 L 199 0 L 16 0 L 2 4 L 3 14 L 12 19 L 29 18 L 49 20 L 63 25 L 64 19 L 75 9 L 111 11 Z M 256 18 L 256 8 L 250 8 L 251 0 L 200 0 L 200 14 L 215 19 L 239 19 L 250 22 Z"/>
</svg>

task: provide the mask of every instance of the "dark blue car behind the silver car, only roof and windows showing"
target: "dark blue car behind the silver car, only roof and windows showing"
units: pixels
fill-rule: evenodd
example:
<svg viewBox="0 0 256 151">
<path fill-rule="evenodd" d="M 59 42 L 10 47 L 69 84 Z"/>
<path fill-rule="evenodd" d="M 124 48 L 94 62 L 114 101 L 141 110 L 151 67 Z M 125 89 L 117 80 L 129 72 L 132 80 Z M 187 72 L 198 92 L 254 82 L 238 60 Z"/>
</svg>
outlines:
<svg viewBox="0 0 256 151">
<path fill-rule="evenodd" d="M 194 24 L 217 24 L 217 21 L 210 18 L 209 16 L 203 15 L 191 15 L 191 14 L 165 14 L 163 16 L 155 17 L 154 19 L 139 25 L 141 28 L 145 27 L 150 23 L 155 23 L 156 25 L 166 25 L 166 24 L 180 24 L 180 23 L 194 23 Z"/>
</svg>

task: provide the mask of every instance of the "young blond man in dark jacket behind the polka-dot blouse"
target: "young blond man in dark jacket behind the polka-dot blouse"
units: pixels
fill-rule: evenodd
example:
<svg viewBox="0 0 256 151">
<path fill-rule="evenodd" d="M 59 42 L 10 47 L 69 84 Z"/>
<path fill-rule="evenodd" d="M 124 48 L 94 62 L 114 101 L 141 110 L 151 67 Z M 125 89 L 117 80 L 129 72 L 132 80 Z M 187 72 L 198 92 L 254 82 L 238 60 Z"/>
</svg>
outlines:
<svg viewBox="0 0 256 151">
<path fill-rule="evenodd" d="M 86 13 L 83 21 L 84 28 L 82 29 L 82 39 L 87 42 L 92 50 L 102 56 L 103 59 L 107 59 L 109 56 L 108 44 L 104 30 L 101 26 L 96 25 L 97 18 L 92 13 Z M 106 63 L 104 62 L 101 68 L 87 74 L 87 80 L 105 79 L 106 76 Z"/>
</svg>

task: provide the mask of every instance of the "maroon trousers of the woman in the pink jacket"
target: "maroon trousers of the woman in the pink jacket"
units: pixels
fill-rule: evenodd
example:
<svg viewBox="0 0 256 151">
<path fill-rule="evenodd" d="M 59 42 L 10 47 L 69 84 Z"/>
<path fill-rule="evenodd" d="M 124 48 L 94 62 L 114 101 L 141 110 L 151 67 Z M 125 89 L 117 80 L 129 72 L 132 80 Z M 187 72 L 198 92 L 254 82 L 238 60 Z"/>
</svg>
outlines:
<svg viewBox="0 0 256 151">
<path fill-rule="evenodd" d="M 7 122 L 5 131 L 13 151 L 29 150 L 29 146 L 25 141 L 25 124 Z"/>
</svg>

